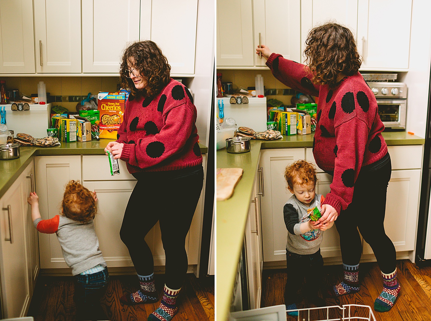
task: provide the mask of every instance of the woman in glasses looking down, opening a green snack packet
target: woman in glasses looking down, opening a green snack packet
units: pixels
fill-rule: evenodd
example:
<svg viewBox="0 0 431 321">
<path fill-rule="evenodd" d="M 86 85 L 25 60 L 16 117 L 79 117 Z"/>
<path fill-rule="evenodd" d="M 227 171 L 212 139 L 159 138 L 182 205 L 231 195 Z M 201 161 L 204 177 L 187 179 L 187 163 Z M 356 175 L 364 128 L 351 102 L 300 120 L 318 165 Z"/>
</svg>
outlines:
<svg viewBox="0 0 431 321">
<path fill-rule="evenodd" d="M 185 238 L 203 185 L 196 107 L 188 89 L 169 77 L 171 67 L 153 41 L 128 46 L 121 85 L 131 89 L 117 141 L 105 149 L 137 179 L 120 230 L 141 288 L 122 303 L 157 302 L 153 254 L 144 240 L 159 221 L 166 255 L 162 302 L 148 320 L 169 321 L 187 273 Z"/>
</svg>

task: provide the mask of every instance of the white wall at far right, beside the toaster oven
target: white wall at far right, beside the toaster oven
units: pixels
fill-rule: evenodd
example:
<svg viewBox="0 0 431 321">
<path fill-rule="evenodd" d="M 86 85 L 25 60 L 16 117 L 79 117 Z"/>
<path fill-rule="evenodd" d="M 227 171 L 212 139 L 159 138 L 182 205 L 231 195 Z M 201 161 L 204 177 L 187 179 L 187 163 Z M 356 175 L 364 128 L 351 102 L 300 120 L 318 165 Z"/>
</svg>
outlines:
<svg viewBox="0 0 431 321">
<path fill-rule="evenodd" d="M 413 0 L 409 71 L 404 77 L 397 79 L 407 84 L 406 131 L 424 138 L 431 66 L 430 12 L 431 1 Z M 396 41 L 394 48 L 396 48 Z"/>
</svg>

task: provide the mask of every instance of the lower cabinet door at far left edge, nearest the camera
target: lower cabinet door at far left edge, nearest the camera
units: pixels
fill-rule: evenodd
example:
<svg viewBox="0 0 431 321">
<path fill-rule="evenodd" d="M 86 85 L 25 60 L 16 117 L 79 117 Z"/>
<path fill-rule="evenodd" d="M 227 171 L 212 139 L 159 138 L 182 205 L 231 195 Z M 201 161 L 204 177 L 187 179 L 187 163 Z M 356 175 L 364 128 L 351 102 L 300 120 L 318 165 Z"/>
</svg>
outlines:
<svg viewBox="0 0 431 321">
<path fill-rule="evenodd" d="M 5 318 L 26 315 L 30 303 L 23 183 L 16 180 L 0 200 L 1 300 Z"/>
</svg>

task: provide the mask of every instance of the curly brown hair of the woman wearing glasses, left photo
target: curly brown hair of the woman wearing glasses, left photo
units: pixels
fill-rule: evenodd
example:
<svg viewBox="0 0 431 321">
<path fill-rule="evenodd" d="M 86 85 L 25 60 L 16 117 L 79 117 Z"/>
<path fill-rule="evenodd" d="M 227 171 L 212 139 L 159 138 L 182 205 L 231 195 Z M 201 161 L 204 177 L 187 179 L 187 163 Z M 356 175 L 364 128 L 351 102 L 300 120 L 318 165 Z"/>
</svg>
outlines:
<svg viewBox="0 0 431 321">
<path fill-rule="evenodd" d="M 146 81 L 144 89 L 138 90 L 128 78 L 128 66 L 133 66 Z M 120 83 L 131 90 L 132 97 L 155 96 L 170 80 L 171 66 L 159 46 L 151 40 L 136 41 L 129 45 L 121 58 Z"/>
</svg>

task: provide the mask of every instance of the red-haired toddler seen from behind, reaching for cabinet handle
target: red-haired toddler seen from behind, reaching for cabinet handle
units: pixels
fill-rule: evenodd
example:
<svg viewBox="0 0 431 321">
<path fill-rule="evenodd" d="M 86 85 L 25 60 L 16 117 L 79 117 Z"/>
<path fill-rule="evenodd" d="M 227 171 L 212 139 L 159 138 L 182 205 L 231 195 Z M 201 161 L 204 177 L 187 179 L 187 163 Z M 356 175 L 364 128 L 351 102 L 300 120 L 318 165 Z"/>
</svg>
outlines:
<svg viewBox="0 0 431 321">
<path fill-rule="evenodd" d="M 62 215 L 42 220 L 37 194 L 30 193 L 27 199 L 31 205 L 34 227 L 41 233 L 57 234 L 64 260 L 72 268 L 72 275 L 75 276 L 73 298 L 77 320 L 106 319 L 100 299 L 105 292 L 109 275 L 94 229 L 96 201 L 95 192 L 91 193 L 79 181 L 71 180 L 64 192 Z"/>
</svg>

